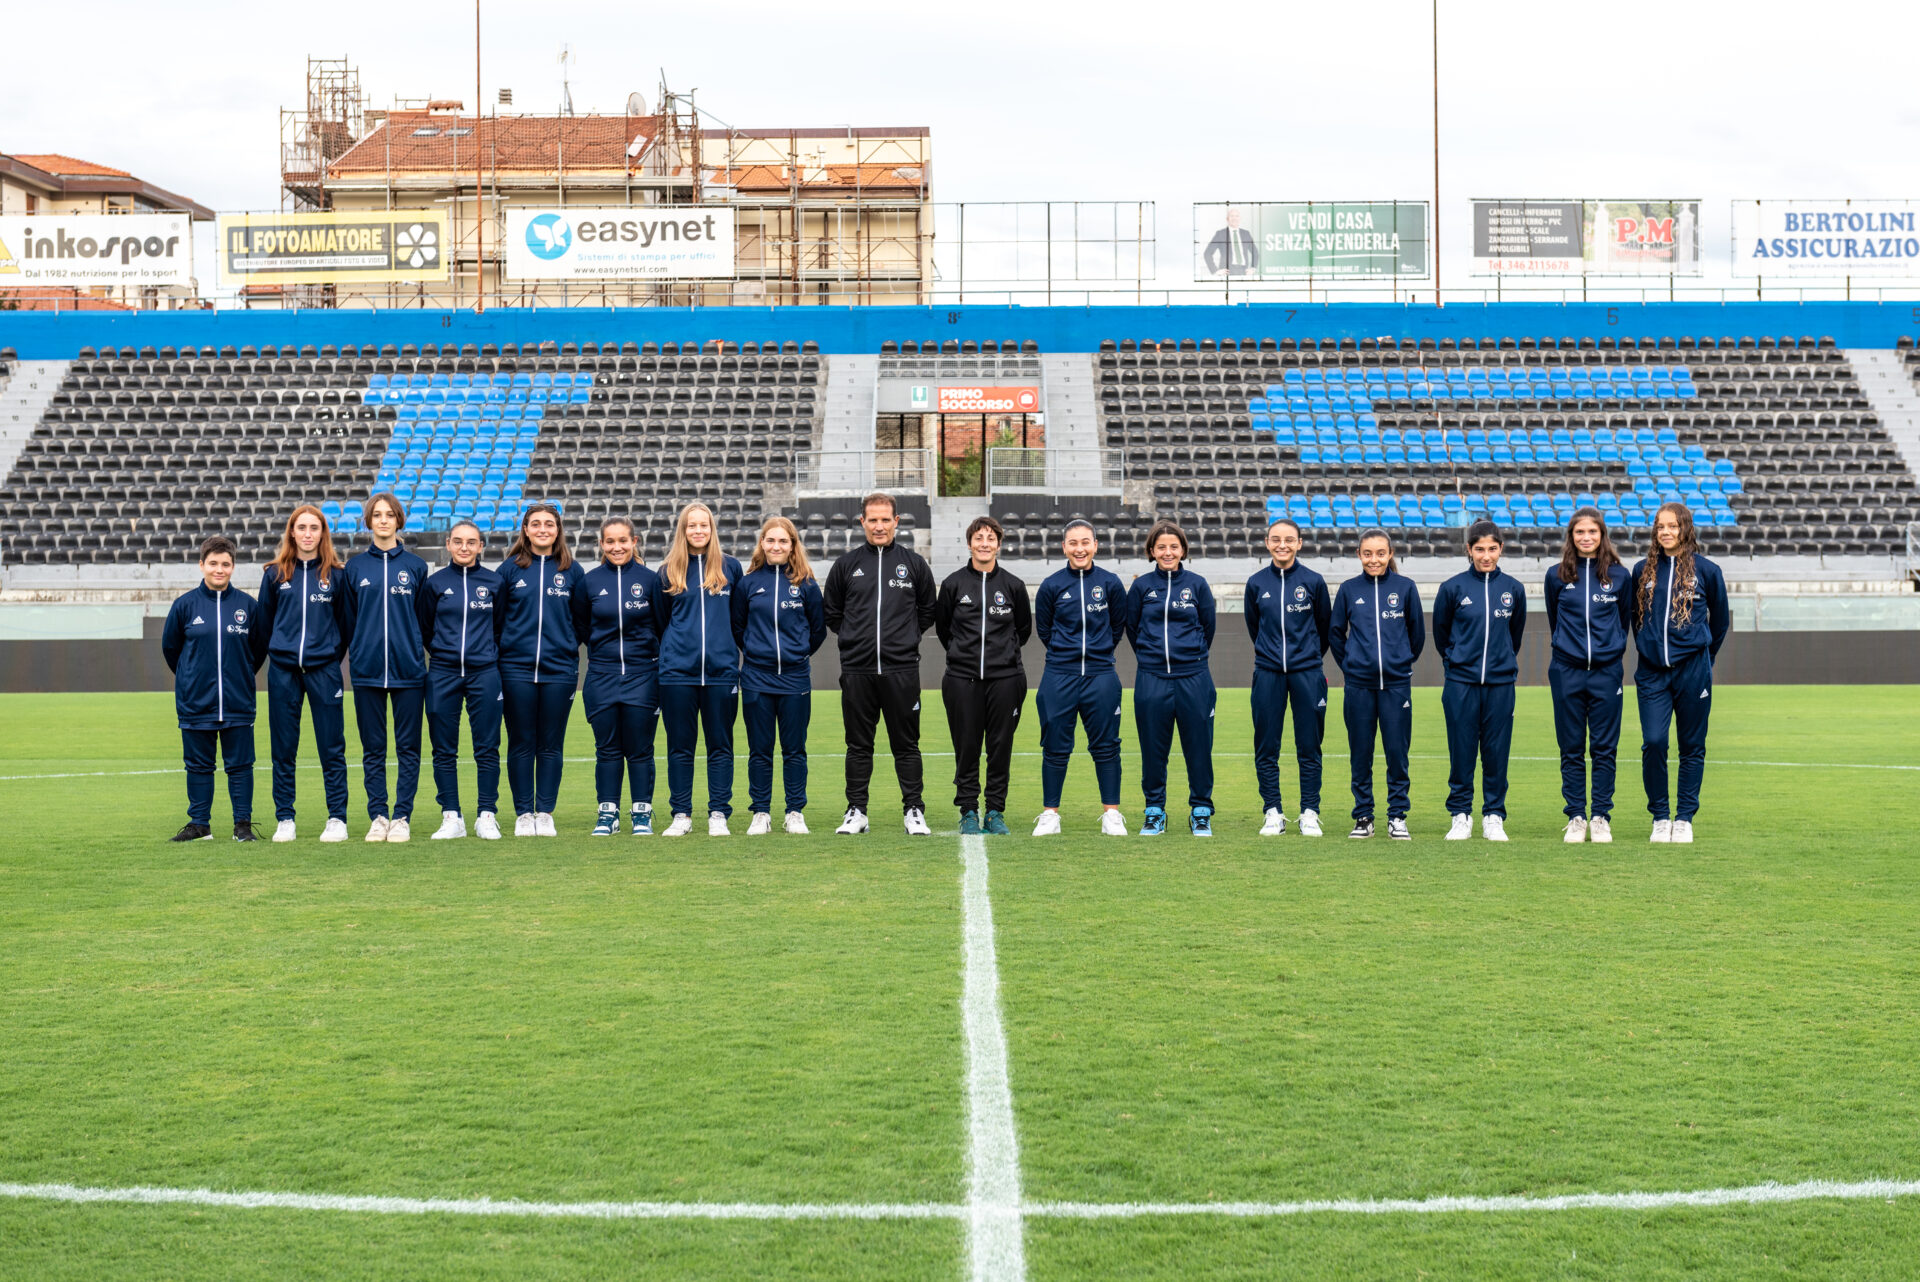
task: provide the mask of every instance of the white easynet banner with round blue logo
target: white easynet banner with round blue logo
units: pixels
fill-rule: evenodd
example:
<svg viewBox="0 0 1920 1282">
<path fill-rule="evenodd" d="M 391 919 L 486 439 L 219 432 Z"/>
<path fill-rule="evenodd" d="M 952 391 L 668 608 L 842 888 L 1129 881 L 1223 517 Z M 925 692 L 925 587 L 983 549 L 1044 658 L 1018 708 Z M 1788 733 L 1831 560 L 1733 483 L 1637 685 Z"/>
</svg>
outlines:
<svg viewBox="0 0 1920 1282">
<path fill-rule="evenodd" d="M 733 211 L 716 205 L 507 209 L 507 280 L 733 274 Z"/>
</svg>

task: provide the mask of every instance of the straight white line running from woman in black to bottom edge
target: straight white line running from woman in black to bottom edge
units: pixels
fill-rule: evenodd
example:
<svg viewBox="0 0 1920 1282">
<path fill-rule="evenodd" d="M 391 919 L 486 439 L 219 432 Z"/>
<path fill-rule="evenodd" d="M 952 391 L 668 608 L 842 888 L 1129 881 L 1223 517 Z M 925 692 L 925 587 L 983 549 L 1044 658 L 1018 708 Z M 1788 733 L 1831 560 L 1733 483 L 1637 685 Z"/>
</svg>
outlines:
<svg viewBox="0 0 1920 1282">
<path fill-rule="evenodd" d="M 1020 1223 L 1020 1140 L 1000 1023 L 1000 967 L 993 954 L 987 839 L 960 839 L 960 914 L 966 971 L 968 1267 L 973 1282 L 1025 1282 Z"/>
</svg>

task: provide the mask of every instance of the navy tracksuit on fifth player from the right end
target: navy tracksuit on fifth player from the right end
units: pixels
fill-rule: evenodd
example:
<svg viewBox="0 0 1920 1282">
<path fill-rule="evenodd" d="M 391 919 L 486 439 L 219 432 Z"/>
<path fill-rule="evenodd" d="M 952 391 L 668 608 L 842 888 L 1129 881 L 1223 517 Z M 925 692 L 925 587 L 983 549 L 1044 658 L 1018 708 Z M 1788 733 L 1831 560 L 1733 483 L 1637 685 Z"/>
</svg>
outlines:
<svg viewBox="0 0 1920 1282">
<path fill-rule="evenodd" d="M 1319 810 L 1321 741 L 1327 737 L 1327 580 L 1298 560 L 1267 564 L 1246 580 L 1246 635 L 1254 641 L 1254 777 L 1260 804 L 1281 810 L 1281 733 L 1294 710 L 1300 808 Z"/>
</svg>

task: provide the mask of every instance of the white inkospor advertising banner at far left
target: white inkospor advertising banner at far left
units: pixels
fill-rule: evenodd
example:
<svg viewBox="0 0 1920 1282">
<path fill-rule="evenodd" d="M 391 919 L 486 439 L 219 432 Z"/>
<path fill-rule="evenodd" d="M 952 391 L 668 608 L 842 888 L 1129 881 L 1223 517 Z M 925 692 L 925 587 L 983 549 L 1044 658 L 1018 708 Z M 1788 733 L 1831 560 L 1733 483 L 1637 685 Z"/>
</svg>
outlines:
<svg viewBox="0 0 1920 1282">
<path fill-rule="evenodd" d="M 184 213 L 29 213 L 0 219 L 0 290 L 194 282 Z"/>
</svg>

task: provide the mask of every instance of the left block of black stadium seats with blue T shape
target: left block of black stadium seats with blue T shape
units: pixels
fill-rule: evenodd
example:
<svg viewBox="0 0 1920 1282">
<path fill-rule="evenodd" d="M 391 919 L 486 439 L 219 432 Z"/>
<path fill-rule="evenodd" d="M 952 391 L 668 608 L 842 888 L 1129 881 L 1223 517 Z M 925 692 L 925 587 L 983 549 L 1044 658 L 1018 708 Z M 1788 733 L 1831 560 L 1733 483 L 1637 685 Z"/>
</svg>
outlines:
<svg viewBox="0 0 1920 1282">
<path fill-rule="evenodd" d="M 513 530 L 534 499 L 580 532 L 616 512 L 662 528 L 718 489 L 745 547 L 812 434 L 808 347 L 88 347 L 0 489 L 0 534 L 17 564 L 179 560 L 213 505 L 263 560 L 296 503 L 351 535 L 372 489 L 417 532 Z"/>
</svg>

